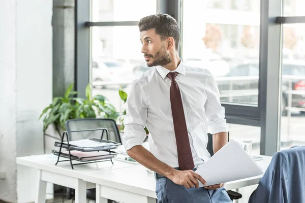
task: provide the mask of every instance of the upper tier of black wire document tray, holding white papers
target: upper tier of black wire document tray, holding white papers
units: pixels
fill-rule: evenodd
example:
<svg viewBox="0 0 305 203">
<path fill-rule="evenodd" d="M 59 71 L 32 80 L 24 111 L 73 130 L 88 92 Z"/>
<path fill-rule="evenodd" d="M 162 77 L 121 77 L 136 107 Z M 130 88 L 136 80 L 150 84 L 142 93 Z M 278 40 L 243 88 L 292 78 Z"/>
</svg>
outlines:
<svg viewBox="0 0 305 203">
<path fill-rule="evenodd" d="M 81 141 L 84 141 L 83 144 L 81 144 Z M 89 144 L 88 141 L 91 141 L 93 144 L 96 142 L 97 145 L 93 145 L 92 147 L 90 147 L 89 145 L 85 145 L 86 143 Z M 116 142 L 111 142 L 111 141 L 107 141 L 107 140 L 100 140 L 100 139 L 90 139 L 90 140 L 79 140 L 78 143 L 80 144 L 80 146 L 77 146 L 77 143 L 75 143 L 75 145 L 73 144 L 73 141 L 69 142 L 70 145 L 70 149 L 71 150 L 78 150 L 78 151 L 82 151 L 82 152 L 93 152 L 93 151 L 101 151 L 101 150 L 109 150 L 109 149 L 116 149 L 118 145 L 120 145 L 120 143 L 116 143 Z M 104 146 L 98 146 L 98 144 L 105 144 Z M 108 144 L 108 145 L 107 145 Z M 55 147 L 60 147 L 60 145 L 62 145 L 62 143 L 60 142 L 55 142 L 54 146 Z M 63 142 L 62 147 L 65 149 L 69 148 L 69 145 L 67 142 Z"/>
</svg>

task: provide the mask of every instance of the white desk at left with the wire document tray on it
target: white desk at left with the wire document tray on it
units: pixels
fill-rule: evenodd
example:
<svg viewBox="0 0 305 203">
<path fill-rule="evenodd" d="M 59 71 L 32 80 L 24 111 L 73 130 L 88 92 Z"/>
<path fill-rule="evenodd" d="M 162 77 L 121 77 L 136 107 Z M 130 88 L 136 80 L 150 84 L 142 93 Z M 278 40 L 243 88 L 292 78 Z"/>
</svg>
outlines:
<svg viewBox="0 0 305 203">
<path fill-rule="evenodd" d="M 60 157 L 59 160 L 64 159 L 65 158 Z M 86 202 L 86 189 L 95 188 L 96 185 L 83 181 L 83 175 L 85 173 L 95 171 L 102 173 L 107 170 L 115 171 L 114 169 L 116 168 L 135 166 L 135 164 L 132 163 L 113 159 L 114 164 L 112 164 L 111 161 L 88 163 L 74 165 L 74 170 L 72 170 L 70 161 L 58 162 L 57 165 L 55 165 L 57 156 L 53 154 L 18 157 L 16 160 L 17 164 L 38 169 L 38 177 L 36 180 L 38 190 L 36 203 L 45 202 L 47 182 L 75 189 L 75 202 Z M 72 163 L 79 162 L 73 161 Z"/>
</svg>

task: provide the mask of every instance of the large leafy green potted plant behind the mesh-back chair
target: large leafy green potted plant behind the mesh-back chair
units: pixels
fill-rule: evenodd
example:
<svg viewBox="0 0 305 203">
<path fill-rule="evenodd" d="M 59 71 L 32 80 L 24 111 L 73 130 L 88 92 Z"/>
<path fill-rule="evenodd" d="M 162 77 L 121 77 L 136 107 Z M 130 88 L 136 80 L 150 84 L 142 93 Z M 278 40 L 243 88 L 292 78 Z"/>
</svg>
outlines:
<svg viewBox="0 0 305 203">
<path fill-rule="evenodd" d="M 92 96 L 92 85 L 86 86 L 85 98 L 77 97 L 80 93 L 73 91 L 73 84 L 69 85 L 63 97 L 54 97 L 52 103 L 46 107 L 39 119 L 43 119 L 45 146 L 52 148 L 54 139 L 59 140 L 66 130 L 65 122 L 76 118 L 111 118 L 116 120 L 119 113 L 109 100 L 103 95 Z M 48 145 L 48 144 L 49 145 Z"/>
</svg>

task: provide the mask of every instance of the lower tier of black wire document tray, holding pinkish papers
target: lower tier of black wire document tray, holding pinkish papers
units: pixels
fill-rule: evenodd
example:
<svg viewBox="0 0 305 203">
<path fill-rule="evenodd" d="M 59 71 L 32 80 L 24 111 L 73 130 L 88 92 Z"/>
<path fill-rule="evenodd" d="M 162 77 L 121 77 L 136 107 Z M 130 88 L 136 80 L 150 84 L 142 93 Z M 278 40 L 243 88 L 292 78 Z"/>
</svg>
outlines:
<svg viewBox="0 0 305 203">
<path fill-rule="evenodd" d="M 104 159 L 111 159 L 115 158 L 117 153 L 115 152 L 80 152 L 77 150 L 71 150 L 71 160 L 86 162 L 86 161 L 96 161 L 96 160 L 104 160 Z M 59 154 L 58 151 L 53 151 L 54 155 Z M 69 151 L 61 152 L 60 157 L 65 157 L 70 159 Z"/>
</svg>

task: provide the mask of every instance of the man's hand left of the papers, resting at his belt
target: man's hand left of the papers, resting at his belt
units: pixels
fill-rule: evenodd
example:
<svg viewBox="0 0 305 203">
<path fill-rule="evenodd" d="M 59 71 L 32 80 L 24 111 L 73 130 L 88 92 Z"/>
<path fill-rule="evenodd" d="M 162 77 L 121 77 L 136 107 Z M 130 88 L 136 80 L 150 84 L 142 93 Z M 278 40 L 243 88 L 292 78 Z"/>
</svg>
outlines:
<svg viewBox="0 0 305 203">
<path fill-rule="evenodd" d="M 183 185 L 186 188 L 191 188 L 191 187 L 198 188 L 199 187 L 198 180 L 203 185 L 206 185 L 205 180 L 199 174 L 196 174 L 192 170 L 188 170 L 188 171 L 175 170 L 174 173 L 172 175 L 169 175 L 167 178 L 169 178 L 175 184 Z"/>
</svg>

